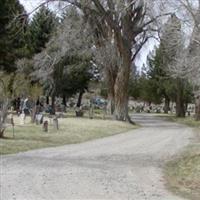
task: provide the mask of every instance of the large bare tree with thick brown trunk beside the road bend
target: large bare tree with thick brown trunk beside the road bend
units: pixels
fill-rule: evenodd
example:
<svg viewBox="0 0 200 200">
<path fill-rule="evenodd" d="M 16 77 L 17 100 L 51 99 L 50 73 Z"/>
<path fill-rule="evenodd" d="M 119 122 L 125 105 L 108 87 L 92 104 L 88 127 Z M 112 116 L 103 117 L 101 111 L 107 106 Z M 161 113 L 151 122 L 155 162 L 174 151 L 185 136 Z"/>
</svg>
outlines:
<svg viewBox="0 0 200 200">
<path fill-rule="evenodd" d="M 53 2 L 56 0 L 46 1 Z M 114 96 L 114 116 L 117 120 L 130 121 L 128 115 L 128 83 L 131 67 L 135 58 L 146 41 L 157 31 L 156 20 L 161 17 L 158 0 L 60 0 L 77 7 L 84 16 L 89 18 L 90 25 L 97 27 L 103 36 L 100 47 L 106 47 L 103 41 L 114 43 L 119 63 L 112 96 Z M 157 12 L 154 12 L 154 11 Z M 166 15 L 166 14 L 164 14 Z M 154 34 L 153 34 L 154 36 Z M 116 69 L 114 66 L 108 68 Z M 112 73 L 113 74 L 113 73 Z M 110 80 L 113 77 L 110 78 Z"/>
</svg>

